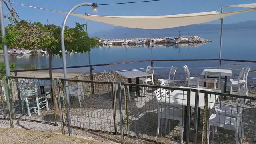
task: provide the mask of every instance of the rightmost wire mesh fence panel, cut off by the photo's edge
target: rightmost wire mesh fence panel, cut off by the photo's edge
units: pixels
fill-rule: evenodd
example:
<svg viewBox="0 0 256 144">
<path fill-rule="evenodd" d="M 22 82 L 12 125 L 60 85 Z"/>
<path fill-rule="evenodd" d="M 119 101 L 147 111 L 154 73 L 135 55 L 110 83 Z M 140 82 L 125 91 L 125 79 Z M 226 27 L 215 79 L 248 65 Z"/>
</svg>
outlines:
<svg viewBox="0 0 256 144">
<path fill-rule="evenodd" d="M 203 141 L 207 144 L 254 144 L 256 142 L 256 97 L 206 92 L 211 109 L 204 110 Z M 226 96 L 226 99 L 224 98 Z M 199 141 L 199 140 L 198 140 Z"/>
</svg>

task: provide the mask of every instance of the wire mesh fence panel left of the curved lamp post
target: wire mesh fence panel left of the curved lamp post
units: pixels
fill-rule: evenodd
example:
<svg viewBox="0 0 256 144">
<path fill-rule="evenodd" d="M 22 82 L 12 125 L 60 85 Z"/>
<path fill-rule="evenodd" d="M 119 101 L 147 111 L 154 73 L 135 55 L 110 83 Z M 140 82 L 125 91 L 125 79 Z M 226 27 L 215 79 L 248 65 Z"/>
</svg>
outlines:
<svg viewBox="0 0 256 144">
<path fill-rule="evenodd" d="M 12 116 L 18 120 L 56 124 L 49 78 L 8 77 Z"/>
</svg>

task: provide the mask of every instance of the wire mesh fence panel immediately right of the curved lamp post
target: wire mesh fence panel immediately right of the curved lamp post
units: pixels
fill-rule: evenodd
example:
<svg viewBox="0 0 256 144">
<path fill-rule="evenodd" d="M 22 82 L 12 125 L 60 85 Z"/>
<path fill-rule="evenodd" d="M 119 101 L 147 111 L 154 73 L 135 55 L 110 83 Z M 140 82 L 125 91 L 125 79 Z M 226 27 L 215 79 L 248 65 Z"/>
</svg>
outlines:
<svg viewBox="0 0 256 144">
<path fill-rule="evenodd" d="M 114 84 L 62 79 L 64 97 L 70 110 L 70 127 L 116 132 Z M 116 87 L 118 88 L 118 87 Z M 68 114 L 67 112 L 67 114 Z"/>
</svg>

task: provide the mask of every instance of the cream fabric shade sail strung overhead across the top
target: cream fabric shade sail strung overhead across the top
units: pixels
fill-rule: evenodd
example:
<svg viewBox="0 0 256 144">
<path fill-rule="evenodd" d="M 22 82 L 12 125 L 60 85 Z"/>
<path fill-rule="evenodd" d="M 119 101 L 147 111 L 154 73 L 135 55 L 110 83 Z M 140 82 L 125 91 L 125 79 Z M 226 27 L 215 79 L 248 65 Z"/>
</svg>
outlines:
<svg viewBox="0 0 256 144">
<path fill-rule="evenodd" d="M 71 15 L 77 16 L 79 18 L 92 20 L 95 22 L 102 22 L 105 24 L 111 24 L 114 26 L 122 26 L 127 28 L 164 29 L 164 28 L 188 26 L 192 24 L 202 24 L 206 22 L 211 22 L 213 20 L 218 20 L 227 16 L 232 16 L 234 14 L 240 14 L 240 13 L 251 12 L 256 10 L 256 8 L 254 8 L 254 6 L 256 6 L 256 3 L 233 5 L 229 7 L 235 7 L 235 6 L 252 8 L 252 9 L 241 10 L 236 12 L 225 12 L 225 13 L 211 11 L 211 12 L 176 14 L 176 15 L 166 15 L 166 16 L 98 16 L 98 15 L 90 15 L 90 14 L 88 15 L 71 14 Z M 32 8 L 37 8 L 37 7 L 32 7 Z M 39 8 L 39 9 L 48 10 L 44 8 Z M 49 11 L 66 14 L 66 12 L 60 12 L 56 10 L 49 10 Z"/>
</svg>

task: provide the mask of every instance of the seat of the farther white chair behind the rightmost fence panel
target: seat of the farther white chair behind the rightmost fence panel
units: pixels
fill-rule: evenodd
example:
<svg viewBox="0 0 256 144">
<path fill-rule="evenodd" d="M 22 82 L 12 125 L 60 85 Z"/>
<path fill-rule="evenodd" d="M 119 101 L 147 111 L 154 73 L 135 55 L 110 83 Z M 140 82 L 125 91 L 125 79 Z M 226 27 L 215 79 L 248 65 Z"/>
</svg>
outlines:
<svg viewBox="0 0 256 144">
<path fill-rule="evenodd" d="M 216 114 L 226 115 L 226 116 L 237 116 L 237 107 L 231 106 L 215 106 Z"/>
</svg>

